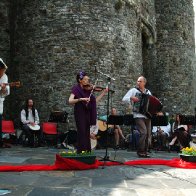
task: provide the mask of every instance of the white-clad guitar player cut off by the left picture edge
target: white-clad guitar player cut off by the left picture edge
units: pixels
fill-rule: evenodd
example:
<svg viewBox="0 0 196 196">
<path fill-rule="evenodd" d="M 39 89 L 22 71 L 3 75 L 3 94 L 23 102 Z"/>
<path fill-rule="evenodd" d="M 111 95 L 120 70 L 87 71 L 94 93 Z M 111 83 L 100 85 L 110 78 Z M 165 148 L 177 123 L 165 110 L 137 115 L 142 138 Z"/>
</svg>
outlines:
<svg viewBox="0 0 196 196">
<path fill-rule="evenodd" d="M 8 77 L 5 74 L 6 70 L 7 70 L 7 66 L 0 58 L 0 147 L 4 147 L 3 140 L 2 140 L 3 102 L 5 100 L 5 97 L 10 94 L 9 85 L 6 85 L 6 83 L 8 83 Z"/>
</svg>

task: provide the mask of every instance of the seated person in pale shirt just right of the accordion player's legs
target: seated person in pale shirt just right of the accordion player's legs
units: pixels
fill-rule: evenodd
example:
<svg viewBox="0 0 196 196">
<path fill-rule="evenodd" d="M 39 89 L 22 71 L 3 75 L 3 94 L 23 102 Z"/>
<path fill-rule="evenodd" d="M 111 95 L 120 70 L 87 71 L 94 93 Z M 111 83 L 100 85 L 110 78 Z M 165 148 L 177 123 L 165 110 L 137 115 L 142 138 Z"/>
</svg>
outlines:
<svg viewBox="0 0 196 196">
<path fill-rule="evenodd" d="M 157 137 L 158 148 L 166 149 L 166 142 L 171 132 L 171 126 L 168 123 L 167 126 L 153 126 L 152 133 Z"/>
</svg>

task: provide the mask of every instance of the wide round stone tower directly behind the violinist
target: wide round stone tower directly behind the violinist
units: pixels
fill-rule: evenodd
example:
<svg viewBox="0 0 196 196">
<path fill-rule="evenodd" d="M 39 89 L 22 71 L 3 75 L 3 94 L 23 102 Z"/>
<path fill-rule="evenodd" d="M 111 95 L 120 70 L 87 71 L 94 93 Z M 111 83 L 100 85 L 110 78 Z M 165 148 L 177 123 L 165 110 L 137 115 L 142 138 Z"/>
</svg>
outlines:
<svg viewBox="0 0 196 196">
<path fill-rule="evenodd" d="M 152 6 L 153 1 L 145 6 Z M 87 71 L 95 81 L 95 68 L 111 75 L 112 104 L 122 113 L 121 100 L 143 73 L 141 29 L 153 24 L 153 16 L 141 19 L 139 1 L 31 1 L 17 4 L 14 64 L 23 87 L 14 97 L 13 107 L 21 108 L 31 96 L 37 103 L 41 119 L 51 110 L 73 113 L 67 103 L 70 89 L 79 70 Z M 149 9 L 151 10 L 151 9 Z M 148 28 L 147 28 L 148 29 Z M 106 86 L 101 74 L 98 85 Z M 99 104 L 106 113 L 106 97 Z"/>
</svg>

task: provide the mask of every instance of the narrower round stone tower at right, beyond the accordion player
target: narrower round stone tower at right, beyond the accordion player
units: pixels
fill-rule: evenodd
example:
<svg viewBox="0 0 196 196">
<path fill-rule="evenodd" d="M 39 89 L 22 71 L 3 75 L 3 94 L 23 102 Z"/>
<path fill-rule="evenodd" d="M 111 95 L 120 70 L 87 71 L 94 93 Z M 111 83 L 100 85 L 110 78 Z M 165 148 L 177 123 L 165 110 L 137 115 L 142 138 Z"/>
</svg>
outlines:
<svg viewBox="0 0 196 196">
<path fill-rule="evenodd" d="M 165 110 L 193 114 L 195 42 L 192 0 L 155 2 L 158 94 Z"/>
</svg>

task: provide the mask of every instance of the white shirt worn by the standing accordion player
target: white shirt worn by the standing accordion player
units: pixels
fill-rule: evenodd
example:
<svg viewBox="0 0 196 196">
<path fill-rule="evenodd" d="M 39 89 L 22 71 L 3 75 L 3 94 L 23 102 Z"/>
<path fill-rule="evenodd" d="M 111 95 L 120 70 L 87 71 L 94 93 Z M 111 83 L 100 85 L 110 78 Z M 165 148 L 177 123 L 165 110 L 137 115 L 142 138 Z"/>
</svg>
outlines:
<svg viewBox="0 0 196 196">
<path fill-rule="evenodd" d="M 141 94 L 141 92 L 137 89 L 137 88 L 132 88 L 130 89 L 126 95 L 123 97 L 122 101 L 125 103 L 131 103 L 132 106 L 134 106 L 134 102 L 131 101 L 131 97 L 138 97 Z M 147 89 L 145 89 L 145 94 L 151 95 L 151 92 Z M 134 112 L 133 110 L 133 117 L 134 118 L 147 118 L 145 115 L 138 113 L 138 112 Z"/>
</svg>

